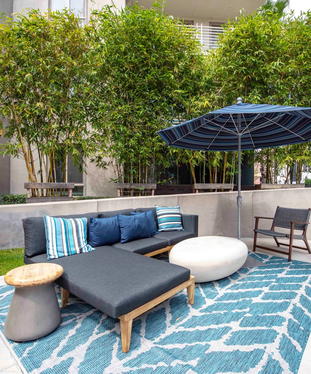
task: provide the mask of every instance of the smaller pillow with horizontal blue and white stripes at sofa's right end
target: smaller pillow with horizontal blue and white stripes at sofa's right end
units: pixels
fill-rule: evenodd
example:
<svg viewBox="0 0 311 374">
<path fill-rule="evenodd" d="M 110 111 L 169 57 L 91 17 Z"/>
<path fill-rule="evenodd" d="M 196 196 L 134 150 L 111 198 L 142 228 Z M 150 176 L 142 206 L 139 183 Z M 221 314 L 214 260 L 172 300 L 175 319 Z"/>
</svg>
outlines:
<svg viewBox="0 0 311 374">
<path fill-rule="evenodd" d="M 181 223 L 180 206 L 155 205 L 159 231 L 184 231 Z"/>
</svg>

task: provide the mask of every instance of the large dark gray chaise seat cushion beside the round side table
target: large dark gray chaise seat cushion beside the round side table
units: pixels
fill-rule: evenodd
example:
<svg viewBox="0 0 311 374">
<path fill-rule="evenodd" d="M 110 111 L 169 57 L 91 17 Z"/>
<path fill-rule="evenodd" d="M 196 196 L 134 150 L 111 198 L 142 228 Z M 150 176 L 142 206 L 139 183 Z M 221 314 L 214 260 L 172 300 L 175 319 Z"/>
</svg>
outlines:
<svg viewBox="0 0 311 374">
<path fill-rule="evenodd" d="M 47 262 L 46 255 L 25 263 Z M 117 318 L 186 282 L 190 270 L 111 246 L 50 260 L 63 267 L 56 283 L 87 303 Z"/>
</svg>

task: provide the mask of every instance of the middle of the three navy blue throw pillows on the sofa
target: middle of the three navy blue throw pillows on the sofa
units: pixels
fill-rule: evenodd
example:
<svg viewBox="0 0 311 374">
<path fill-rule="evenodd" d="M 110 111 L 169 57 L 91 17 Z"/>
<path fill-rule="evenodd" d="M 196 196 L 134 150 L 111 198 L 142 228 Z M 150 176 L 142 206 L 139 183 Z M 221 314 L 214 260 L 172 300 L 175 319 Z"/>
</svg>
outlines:
<svg viewBox="0 0 311 374">
<path fill-rule="evenodd" d="M 141 215 L 123 215 L 118 214 L 119 225 L 121 229 L 121 243 L 127 243 L 131 240 L 150 237 L 149 224 L 145 214 Z"/>
</svg>

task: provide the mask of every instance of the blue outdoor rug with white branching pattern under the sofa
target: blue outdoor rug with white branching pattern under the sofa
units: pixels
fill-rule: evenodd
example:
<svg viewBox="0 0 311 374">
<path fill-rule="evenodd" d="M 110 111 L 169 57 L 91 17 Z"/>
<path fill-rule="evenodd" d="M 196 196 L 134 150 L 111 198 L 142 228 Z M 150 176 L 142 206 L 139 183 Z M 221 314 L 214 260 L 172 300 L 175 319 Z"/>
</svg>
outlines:
<svg viewBox="0 0 311 374">
<path fill-rule="evenodd" d="M 311 329 L 311 264 L 252 256 L 267 266 L 198 283 L 193 306 L 182 291 L 134 320 L 128 353 L 118 319 L 74 297 L 54 332 L 10 346 L 32 374 L 297 373 Z M 12 294 L 0 287 L 2 332 Z"/>
</svg>

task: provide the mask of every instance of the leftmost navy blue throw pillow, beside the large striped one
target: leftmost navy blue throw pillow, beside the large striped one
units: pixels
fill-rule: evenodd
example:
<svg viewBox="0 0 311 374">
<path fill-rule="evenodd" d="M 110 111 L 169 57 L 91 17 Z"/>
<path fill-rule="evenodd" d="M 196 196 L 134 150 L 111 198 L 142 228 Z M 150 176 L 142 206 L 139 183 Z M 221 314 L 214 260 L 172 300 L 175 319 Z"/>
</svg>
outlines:
<svg viewBox="0 0 311 374">
<path fill-rule="evenodd" d="M 88 244 L 92 247 L 118 243 L 121 240 L 121 230 L 118 216 L 109 218 L 90 218 Z"/>
</svg>

